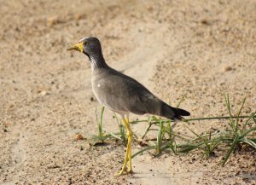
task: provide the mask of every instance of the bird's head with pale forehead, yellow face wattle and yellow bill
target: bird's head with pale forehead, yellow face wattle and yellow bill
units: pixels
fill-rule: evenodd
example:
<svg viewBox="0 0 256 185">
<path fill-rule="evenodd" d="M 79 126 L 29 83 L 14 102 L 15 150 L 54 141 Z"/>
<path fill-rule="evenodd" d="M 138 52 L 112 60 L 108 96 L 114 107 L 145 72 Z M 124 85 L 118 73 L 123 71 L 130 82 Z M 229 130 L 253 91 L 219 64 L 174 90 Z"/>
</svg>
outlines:
<svg viewBox="0 0 256 185">
<path fill-rule="evenodd" d="M 79 43 L 74 44 L 67 50 L 80 51 L 87 55 L 90 59 L 91 57 L 102 55 L 101 43 L 98 38 L 94 37 L 82 38 L 81 40 L 79 40 Z"/>
</svg>

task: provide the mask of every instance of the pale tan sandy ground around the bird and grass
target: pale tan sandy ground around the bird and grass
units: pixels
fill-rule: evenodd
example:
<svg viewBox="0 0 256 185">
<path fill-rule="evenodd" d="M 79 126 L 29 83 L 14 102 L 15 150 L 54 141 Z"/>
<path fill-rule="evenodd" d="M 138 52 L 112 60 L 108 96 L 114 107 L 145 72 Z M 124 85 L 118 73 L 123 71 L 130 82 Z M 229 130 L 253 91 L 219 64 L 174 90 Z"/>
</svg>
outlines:
<svg viewBox="0 0 256 185">
<path fill-rule="evenodd" d="M 125 146 L 90 145 L 101 106 L 88 59 L 66 51 L 96 36 L 110 66 L 173 105 L 185 95 L 181 107 L 191 118 L 226 115 L 223 93 L 234 110 L 247 97 L 249 114 L 256 107 L 255 9 L 255 0 L 1 1 L 0 184 L 256 184 L 256 153 L 244 150 L 224 167 L 224 151 L 210 159 L 143 153 L 133 175 L 113 177 Z M 118 130 L 113 113 L 104 120 L 104 130 Z M 189 127 L 201 133 L 226 124 Z M 146 126 L 132 130 L 140 136 Z M 176 130 L 188 132 L 182 124 Z M 77 133 L 85 139 L 76 141 Z"/>
</svg>

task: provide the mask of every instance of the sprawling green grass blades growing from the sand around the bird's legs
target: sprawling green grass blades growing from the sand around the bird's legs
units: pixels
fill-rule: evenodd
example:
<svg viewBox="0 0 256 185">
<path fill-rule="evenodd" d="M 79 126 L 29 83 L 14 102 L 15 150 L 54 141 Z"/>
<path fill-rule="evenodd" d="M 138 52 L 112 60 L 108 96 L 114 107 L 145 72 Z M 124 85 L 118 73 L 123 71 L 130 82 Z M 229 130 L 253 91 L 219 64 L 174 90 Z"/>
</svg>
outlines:
<svg viewBox="0 0 256 185">
<path fill-rule="evenodd" d="M 181 101 L 178 103 L 177 107 L 180 106 Z M 202 158 L 207 159 L 209 157 L 215 156 L 215 151 L 217 148 L 223 148 L 224 151 L 227 150 L 227 153 L 224 155 L 224 160 L 222 165 L 225 165 L 228 159 L 230 159 L 231 153 L 236 151 L 236 148 L 241 145 L 249 145 L 256 149 L 256 112 L 241 116 L 242 109 L 245 105 L 246 99 L 244 98 L 241 102 L 241 107 L 237 113 L 233 113 L 230 106 L 230 97 L 229 95 L 224 95 L 225 106 L 229 116 L 224 117 L 208 117 L 208 118 L 194 118 L 194 119 L 185 119 L 183 126 L 188 129 L 192 134 L 191 136 L 182 136 L 174 130 L 174 123 L 170 119 L 161 119 L 155 116 L 150 116 L 145 120 L 136 120 L 131 122 L 131 124 L 137 123 L 148 123 L 146 130 L 143 133 L 141 138 L 138 138 L 135 135 L 137 141 L 143 141 L 143 149 L 139 150 L 137 153 L 132 155 L 132 158 L 138 154 L 144 153 L 145 151 L 154 149 L 155 156 L 159 155 L 162 152 L 169 151 L 174 154 L 178 153 L 190 153 L 193 151 L 201 151 Z M 115 138 L 123 142 L 124 145 L 127 143 L 127 137 L 125 135 L 125 128 L 121 121 L 117 119 L 116 121 L 119 124 L 119 132 L 108 133 L 106 135 L 102 132 L 102 117 L 103 117 L 104 107 L 102 108 L 101 121 L 99 122 L 96 114 L 96 122 L 98 124 L 98 136 L 96 136 L 100 141 L 104 142 L 107 138 Z M 207 120 L 216 120 L 216 119 L 227 119 L 228 120 L 228 129 L 217 130 L 217 131 L 206 131 L 204 133 L 198 134 L 194 130 L 190 129 L 187 125 L 189 122 L 194 121 L 207 121 Z M 152 129 L 152 126 L 157 126 L 157 136 L 156 138 L 145 139 L 148 132 Z M 139 142 L 138 142 L 139 143 Z"/>
</svg>

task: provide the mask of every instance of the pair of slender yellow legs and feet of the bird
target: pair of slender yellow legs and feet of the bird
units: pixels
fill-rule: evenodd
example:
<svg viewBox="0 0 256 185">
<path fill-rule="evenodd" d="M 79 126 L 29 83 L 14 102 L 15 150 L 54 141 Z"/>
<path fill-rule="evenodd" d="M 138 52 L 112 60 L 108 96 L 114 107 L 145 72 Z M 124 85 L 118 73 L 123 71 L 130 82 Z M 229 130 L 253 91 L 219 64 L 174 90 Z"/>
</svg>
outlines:
<svg viewBox="0 0 256 185">
<path fill-rule="evenodd" d="M 119 173 L 116 176 L 121 176 L 124 174 L 124 172 L 127 173 L 131 173 L 132 169 L 131 169 L 131 139 L 132 139 L 132 132 L 130 129 L 130 124 L 129 124 L 129 120 L 128 119 L 123 119 L 123 122 L 125 124 L 125 128 L 127 130 L 127 137 L 128 137 L 128 143 L 127 143 L 127 147 L 126 147 L 126 153 L 125 153 L 125 161 L 122 167 L 122 170 L 119 171 Z M 128 165 L 128 171 L 127 171 L 127 162 L 129 161 L 129 165 Z"/>
</svg>

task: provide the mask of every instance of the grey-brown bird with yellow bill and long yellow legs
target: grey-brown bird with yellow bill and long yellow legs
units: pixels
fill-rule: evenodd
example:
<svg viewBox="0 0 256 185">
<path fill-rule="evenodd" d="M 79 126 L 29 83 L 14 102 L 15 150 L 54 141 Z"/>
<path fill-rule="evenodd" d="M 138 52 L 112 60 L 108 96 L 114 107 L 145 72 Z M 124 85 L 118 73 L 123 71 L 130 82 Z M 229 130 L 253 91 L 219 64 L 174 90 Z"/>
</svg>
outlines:
<svg viewBox="0 0 256 185">
<path fill-rule="evenodd" d="M 190 113 L 181 108 L 171 107 L 161 101 L 136 79 L 118 72 L 106 63 L 102 54 L 102 44 L 96 37 L 86 37 L 79 40 L 67 50 L 77 50 L 87 55 L 91 66 L 91 86 L 99 101 L 114 113 L 119 114 L 125 124 L 127 147 L 124 164 L 116 176 L 132 173 L 131 139 L 132 131 L 129 113 L 137 115 L 153 114 L 166 119 L 183 120 Z"/>
</svg>

